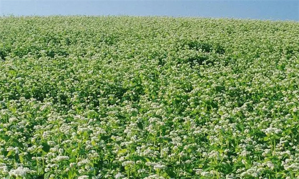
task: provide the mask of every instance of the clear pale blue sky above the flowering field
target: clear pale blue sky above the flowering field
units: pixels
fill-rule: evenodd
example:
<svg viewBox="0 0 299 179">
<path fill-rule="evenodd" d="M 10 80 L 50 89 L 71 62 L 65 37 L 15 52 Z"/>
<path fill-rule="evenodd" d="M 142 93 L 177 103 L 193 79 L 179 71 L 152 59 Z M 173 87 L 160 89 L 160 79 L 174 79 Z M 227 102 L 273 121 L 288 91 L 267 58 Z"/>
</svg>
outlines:
<svg viewBox="0 0 299 179">
<path fill-rule="evenodd" d="M 0 0 L 0 15 L 167 15 L 299 21 L 299 0 Z"/>
</svg>

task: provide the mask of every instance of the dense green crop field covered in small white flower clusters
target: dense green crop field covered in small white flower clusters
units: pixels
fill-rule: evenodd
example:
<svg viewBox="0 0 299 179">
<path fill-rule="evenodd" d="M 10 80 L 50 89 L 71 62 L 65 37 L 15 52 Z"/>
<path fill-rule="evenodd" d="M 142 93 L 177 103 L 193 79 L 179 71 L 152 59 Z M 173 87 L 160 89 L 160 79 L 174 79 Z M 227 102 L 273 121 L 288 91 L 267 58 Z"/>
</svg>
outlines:
<svg viewBox="0 0 299 179">
<path fill-rule="evenodd" d="M 298 22 L 0 18 L 0 179 L 298 178 Z"/>
</svg>

